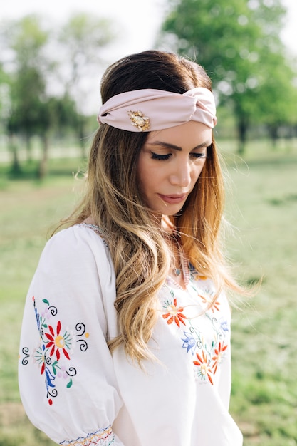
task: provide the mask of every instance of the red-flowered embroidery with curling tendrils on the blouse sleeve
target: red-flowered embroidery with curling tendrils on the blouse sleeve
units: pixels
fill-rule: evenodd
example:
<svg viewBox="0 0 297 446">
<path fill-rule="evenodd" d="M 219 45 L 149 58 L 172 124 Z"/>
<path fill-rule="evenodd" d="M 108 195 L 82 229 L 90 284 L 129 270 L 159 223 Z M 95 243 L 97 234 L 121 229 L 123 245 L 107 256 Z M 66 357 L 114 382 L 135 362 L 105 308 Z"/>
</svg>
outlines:
<svg viewBox="0 0 297 446">
<path fill-rule="evenodd" d="M 75 325 L 76 334 L 70 328 L 63 328 L 60 320 L 55 319 L 58 316 L 58 309 L 51 306 L 47 299 L 42 300 L 45 307 L 41 313 L 36 308 L 36 300 L 33 297 L 33 307 L 36 316 L 36 323 L 40 334 L 39 345 L 30 355 L 28 347 L 22 348 L 24 358 L 21 363 L 28 364 L 28 358 L 33 358 L 41 369 L 41 375 L 45 377 L 46 398 L 48 404 L 52 405 L 52 398 L 56 398 L 58 390 L 56 388 L 56 380 L 67 380 L 66 388 L 73 385 L 73 376 L 77 370 L 73 366 L 68 366 L 71 356 L 76 347 L 79 345 L 80 351 L 86 351 L 88 343 L 84 338 L 88 338 L 89 334 L 85 333 L 85 324 L 79 322 Z M 53 323 L 48 323 L 53 319 Z"/>
</svg>

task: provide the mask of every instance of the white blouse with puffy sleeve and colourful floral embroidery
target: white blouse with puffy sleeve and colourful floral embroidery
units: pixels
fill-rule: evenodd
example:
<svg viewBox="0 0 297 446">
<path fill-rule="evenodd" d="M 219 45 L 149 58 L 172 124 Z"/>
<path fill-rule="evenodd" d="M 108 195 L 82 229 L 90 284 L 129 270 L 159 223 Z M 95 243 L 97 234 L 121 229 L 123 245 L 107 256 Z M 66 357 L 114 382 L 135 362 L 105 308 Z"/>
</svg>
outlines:
<svg viewBox="0 0 297 446">
<path fill-rule="evenodd" d="M 103 239 L 80 224 L 52 237 L 33 277 L 21 331 L 19 388 L 28 418 L 60 445 L 241 446 L 229 415 L 230 310 L 189 266 L 168 279 L 145 372 L 117 336 L 115 274 Z"/>
</svg>

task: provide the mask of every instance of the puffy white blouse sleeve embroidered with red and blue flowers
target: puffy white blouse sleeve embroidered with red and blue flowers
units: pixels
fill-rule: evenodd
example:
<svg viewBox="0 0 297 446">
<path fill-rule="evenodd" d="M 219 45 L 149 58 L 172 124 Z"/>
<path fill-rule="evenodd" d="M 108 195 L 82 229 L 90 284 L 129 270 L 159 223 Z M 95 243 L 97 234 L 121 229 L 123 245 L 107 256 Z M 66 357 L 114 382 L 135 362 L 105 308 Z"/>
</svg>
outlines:
<svg viewBox="0 0 297 446">
<path fill-rule="evenodd" d="M 123 445 L 112 430 L 122 400 L 106 343 L 114 300 L 98 234 L 77 226 L 48 241 L 26 299 L 19 389 L 33 425 L 60 445 Z"/>
</svg>

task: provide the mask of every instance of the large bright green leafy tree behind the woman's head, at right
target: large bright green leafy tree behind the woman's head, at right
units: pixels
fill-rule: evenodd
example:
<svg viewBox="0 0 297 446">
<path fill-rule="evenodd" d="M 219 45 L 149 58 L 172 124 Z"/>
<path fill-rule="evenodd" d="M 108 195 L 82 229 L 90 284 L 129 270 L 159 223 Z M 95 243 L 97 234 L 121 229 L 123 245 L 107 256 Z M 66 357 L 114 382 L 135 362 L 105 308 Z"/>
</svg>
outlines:
<svg viewBox="0 0 297 446">
<path fill-rule="evenodd" d="M 175 0 L 162 26 L 160 41 L 197 58 L 212 77 L 219 103 L 233 108 L 240 152 L 249 125 L 264 120 L 264 100 L 275 99 L 264 88 L 273 77 L 272 61 L 278 58 L 288 72 L 279 38 L 284 13 L 280 0 Z"/>
</svg>

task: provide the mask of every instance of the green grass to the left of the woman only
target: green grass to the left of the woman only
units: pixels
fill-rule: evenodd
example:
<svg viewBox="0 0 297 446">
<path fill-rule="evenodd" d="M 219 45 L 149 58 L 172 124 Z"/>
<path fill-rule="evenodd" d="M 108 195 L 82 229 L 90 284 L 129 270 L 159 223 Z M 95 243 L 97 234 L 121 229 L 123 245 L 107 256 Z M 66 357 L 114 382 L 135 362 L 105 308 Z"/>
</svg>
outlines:
<svg viewBox="0 0 297 446">
<path fill-rule="evenodd" d="M 26 289 L 36 269 L 41 250 L 58 220 L 77 202 L 80 180 L 73 172 L 79 160 L 51 162 L 51 174 L 39 182 L 32 177 L 9 180 L 0 167 L 0 446 L 53 445 L 28 422 L 19 400 L 17 364 L 19 333 Z"/>
</svg>

